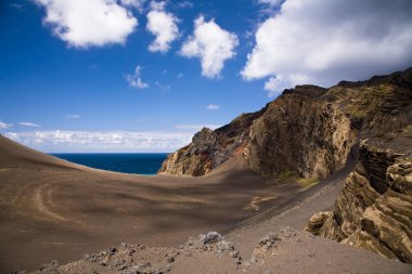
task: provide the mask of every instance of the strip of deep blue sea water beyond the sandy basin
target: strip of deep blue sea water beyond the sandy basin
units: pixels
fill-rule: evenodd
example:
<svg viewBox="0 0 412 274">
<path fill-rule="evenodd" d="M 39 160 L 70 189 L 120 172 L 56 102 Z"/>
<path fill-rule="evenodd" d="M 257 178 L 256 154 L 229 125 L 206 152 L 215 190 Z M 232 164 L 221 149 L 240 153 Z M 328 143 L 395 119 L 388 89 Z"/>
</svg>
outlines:
<svg viewBox="0 0 412 274">
<path fill-rule="evenodd" d="M 59 153 L 51 154 L 64 160 L 90 168 L 124 173 L 154 175 L 167 153 Z"/>
</svg>

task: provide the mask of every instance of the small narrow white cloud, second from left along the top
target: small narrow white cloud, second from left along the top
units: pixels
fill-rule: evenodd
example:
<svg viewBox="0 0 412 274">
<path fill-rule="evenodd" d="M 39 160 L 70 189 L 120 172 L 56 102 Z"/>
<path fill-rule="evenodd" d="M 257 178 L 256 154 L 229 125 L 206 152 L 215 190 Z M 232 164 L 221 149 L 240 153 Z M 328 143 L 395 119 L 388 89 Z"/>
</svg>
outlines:
<svg viewBox="0 0 412 274">
<path fill-rule="evenodd" d="M 163 2 L 164 3 L 164 2 Z M 152 11 L 146 15 L 146 29 L 154 36 L 155 40 L 149 45 L 152 52 L 167 52 L 170 49 L 170 43 L 178 38 L 178 17 L 172 13 L 166 12 L 165 4 L 152 4 Z"/>
</svg>

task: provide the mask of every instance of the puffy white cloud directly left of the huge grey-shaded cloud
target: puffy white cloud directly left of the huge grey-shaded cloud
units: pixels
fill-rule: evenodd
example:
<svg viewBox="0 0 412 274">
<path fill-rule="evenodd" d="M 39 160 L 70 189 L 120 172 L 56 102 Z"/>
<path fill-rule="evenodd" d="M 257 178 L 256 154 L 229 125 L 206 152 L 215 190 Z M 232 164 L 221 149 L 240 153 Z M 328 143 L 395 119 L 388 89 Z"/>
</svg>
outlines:
<svg viewBox="0 0 412 274">
<path fill-rule="evenodd" d="M 199 16 L 194 22 L 194 31 L 183 43 L 180 54 L 185 57 L 198 57 L 202 75 L 208 78 L 219 77 L 224 61 L 235 55 L 233 49 L 239 44 L 236 35 L 222 29 L 214 19 L 205 22 Z"/>
</svg>

